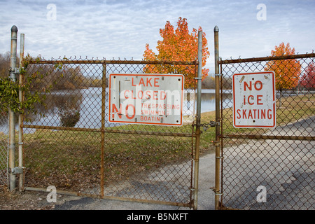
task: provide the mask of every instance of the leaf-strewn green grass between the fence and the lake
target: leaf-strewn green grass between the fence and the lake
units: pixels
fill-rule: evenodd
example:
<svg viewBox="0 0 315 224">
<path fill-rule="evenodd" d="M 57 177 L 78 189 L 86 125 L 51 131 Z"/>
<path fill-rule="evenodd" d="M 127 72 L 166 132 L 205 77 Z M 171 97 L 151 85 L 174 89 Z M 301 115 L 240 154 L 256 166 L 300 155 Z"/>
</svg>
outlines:
<svg viewBox="0 0 315 224">
<path fill-rule="evenodd" d="M 286 97 L 276 104 L 276 123 L 284 125 L 315 114 L 315 97 Z M 224 134 L 258 134 L 262 129 L 235 129 L 232 126 L 232 109 L 223 110 Z M 215 112 L 202 113 L 201 122 L 215 120 Z M 147 132 L 192 132 L 191 125 L 161 127 L 154 125 L 126 125 L 114 130 Z M 93 188 L 100 181 L 101 133 L 36 130 L 24 134 L 26 186 L 47 188 L 54 185 L 59 190 L 84 190 Z M 190 137 L 160 135 L 114 134 L 104 136 L 104 182 L 106 185 L 134 174 L 157 169 L 165 165 L 190 161 L 192 144 Z M 214 149 L 214 127 L 203 131 L 200 137 L 200 153 Z M 0 140 L 6 141 L 0 134 Z M 235 141 L 227 142 L 235 144 Z M 18 155 L 16 156 L 18 158 Z M 189 171 L 187 171 L 189 172 Z"/>
</svg>

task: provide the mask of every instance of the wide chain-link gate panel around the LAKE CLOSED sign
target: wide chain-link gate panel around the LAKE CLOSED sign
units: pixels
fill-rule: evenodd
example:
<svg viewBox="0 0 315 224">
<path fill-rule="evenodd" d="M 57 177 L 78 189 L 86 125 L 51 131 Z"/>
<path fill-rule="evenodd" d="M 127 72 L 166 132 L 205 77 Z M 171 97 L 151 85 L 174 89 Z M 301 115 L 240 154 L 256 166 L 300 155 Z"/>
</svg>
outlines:
<svg viewBox="0 0 315 224">
<path fill-rule="evenodd" d="M 45 105 L 24 120 L 25 189 L 192 207 L 195 86 L 184 92 L 183 125 L 109 122 L 109 74 L 181 73 L 196 62 L 52 59 L 29 63 Z M 194 82 L 193 82 L 194 83 Z"/>
</svg>

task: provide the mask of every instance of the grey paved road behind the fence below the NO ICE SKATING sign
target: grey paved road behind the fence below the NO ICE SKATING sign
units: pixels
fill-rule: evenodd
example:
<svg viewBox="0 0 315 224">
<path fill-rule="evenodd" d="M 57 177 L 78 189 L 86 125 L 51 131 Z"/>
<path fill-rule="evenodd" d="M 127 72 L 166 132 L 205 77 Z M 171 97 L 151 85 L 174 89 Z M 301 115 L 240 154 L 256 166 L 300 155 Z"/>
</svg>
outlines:
<svg viewBox="0 0 315 224">
<path fill-rule="evenodd" d="M 315 136 L 315 116 L 268 135 Z M 225 148 L 226 207 L 241 209 L 315 209 L 315 142 L 251 140 Z M 267 202 L 258 203 L 258 186 Z"/>
</svg>

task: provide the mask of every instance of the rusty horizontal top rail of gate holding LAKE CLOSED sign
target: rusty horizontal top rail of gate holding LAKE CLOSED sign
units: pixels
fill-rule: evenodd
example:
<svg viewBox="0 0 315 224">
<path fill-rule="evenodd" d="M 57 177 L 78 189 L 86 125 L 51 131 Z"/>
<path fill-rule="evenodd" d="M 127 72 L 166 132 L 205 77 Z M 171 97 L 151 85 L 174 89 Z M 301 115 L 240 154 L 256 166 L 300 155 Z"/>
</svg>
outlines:
<svg viewBox="0 0 315 224">
<path fill-rule="evenodd" d="M 198 65 L 197 60 L 185 61 L 146 61 L 146 60 L 106 60 L 106 59 L 31 59 L 29 64 L 179 64 L 179 65 Z"/>
</svg>

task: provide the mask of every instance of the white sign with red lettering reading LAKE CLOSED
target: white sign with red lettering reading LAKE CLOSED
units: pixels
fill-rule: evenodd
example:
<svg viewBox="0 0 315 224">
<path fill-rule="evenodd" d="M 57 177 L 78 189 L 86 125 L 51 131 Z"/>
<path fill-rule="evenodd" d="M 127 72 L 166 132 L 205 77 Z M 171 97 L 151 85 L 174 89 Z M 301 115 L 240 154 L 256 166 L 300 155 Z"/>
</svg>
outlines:
<svg viewBox="0 0 315 224">
<path fill-rule="evenodd" d="M 180 74 L 110 74 L 109 122 L 180 126 L 183 90 Z"/>
</svg>

